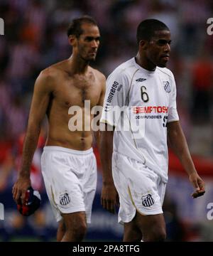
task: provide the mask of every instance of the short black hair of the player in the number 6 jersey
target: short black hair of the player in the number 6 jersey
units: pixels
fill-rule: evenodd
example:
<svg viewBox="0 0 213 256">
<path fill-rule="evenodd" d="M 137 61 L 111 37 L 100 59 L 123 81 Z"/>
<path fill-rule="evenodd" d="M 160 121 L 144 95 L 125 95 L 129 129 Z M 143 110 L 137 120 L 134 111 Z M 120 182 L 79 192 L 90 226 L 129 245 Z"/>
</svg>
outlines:
<svg viewBox="0 0 213 256">
<path fill-rule="evenodd" d="M 162 21 L 158 21 L 155 18 L 148 18 L 138 25 L 137 28 L 137 43 L 141 40 L 151 40 L 154 36 L 155 31 L 167 30 L 170 31 L 168 26 Z"/>
</svg>

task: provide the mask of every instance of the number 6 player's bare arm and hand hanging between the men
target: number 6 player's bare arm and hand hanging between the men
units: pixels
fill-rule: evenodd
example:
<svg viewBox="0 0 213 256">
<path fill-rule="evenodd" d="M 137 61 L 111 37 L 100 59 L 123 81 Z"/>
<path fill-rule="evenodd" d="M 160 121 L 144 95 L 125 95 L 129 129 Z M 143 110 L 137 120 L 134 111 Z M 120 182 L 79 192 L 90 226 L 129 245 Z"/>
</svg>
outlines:
<svg viewBox="0 0 213 256">
<path fill-rule="evenodd" d="M 114 213 L 115 205 L 119 202 L 118 193 L 114 186 L 114 181 L 111 172 L 111 156 L 113 152 L 113 135 L 114 131 L 107 131 L 107 124 L 105 124 L 105 131 L 101 132 L 100 136 L 100 154 L 102 161 L 102 206 L 109 212 Z"/>
</svg>

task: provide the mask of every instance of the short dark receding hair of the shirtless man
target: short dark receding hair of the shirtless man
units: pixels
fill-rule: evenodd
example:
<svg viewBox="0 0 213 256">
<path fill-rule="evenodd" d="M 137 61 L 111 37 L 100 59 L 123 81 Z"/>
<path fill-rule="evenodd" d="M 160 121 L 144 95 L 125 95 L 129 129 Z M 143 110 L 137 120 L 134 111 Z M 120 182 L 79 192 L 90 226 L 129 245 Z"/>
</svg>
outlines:
<svg viewBox="0 0 213 256">
<path fill-rule="evenodd" d="M 97 26 L 97 22 L 94 20 L 94 18 L 90 16 L 82 16 L 80 18 L 75 18 L 70 23 L 70 26 L 67 28 L 67 36 L 74 35 L 77 38 L 80 37 L 80 35 L 83 33 L 82 30 L 82 23 L 89 23 L 94 26 Z"/>
</svg>

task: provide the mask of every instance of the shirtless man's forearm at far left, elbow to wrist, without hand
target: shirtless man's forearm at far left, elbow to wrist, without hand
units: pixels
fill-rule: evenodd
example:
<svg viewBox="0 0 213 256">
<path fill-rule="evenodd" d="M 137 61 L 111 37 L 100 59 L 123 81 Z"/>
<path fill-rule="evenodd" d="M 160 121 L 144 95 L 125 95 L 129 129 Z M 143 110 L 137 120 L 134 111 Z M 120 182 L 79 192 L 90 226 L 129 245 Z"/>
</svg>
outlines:
<svg viewBox="0 0 213 256">
<path fill-rule="evenodd" d="M 23 144 L 21 169 L 18 173 L 21 177 L 30 177 L 31 163 L 33 160 L 33 154 L 35 153 L 35 149 L 38 144 L 39 134 L 40 127 L 28 128 L 26 132 L 26 137 Z"/>
</svg>

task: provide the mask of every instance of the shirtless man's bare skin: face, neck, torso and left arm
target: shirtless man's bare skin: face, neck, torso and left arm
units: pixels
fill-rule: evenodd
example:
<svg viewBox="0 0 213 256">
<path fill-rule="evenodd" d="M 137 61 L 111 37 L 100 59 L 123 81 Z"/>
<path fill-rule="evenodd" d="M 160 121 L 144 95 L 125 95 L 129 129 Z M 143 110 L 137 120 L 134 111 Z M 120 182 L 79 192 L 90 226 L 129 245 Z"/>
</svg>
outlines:
<svg viewBox="0 0 213 256">
<path fill-rule="evenodd" d="M 69 36 L 72 56 L 43 70 L 35 81 L 21 169 L 13 186 L 16 202 L 20 196 L 24 200 L 26 189 L 31 185 L 31 161 L 45 114 L 49 124 L 46 146 L 63 146 L 81 151 L 91 148 L 92 130 L 84 130 L 84 120 L 87 119 L 87 124 L 90 124 L 92 119 L 90 111 L 84 109 L 84 101 L 89 100 L 91 109 L 95 105 L 102 106 L 104 101 L 106 79 L 102 73 L 89 66 L 89 62 L 95 60 L 97 55 L 99 38 L 97 26 L 83 23 L 79 38 Z M 82 129 L 77 131 L 71 131 L 68 126 L 72 118 L 72 114 L 69 114 L 72 106 L 82 108 L 82 117 L 78 117 Z M 94 132 L 97 139 L 98 134 Z"/>
</svg>

